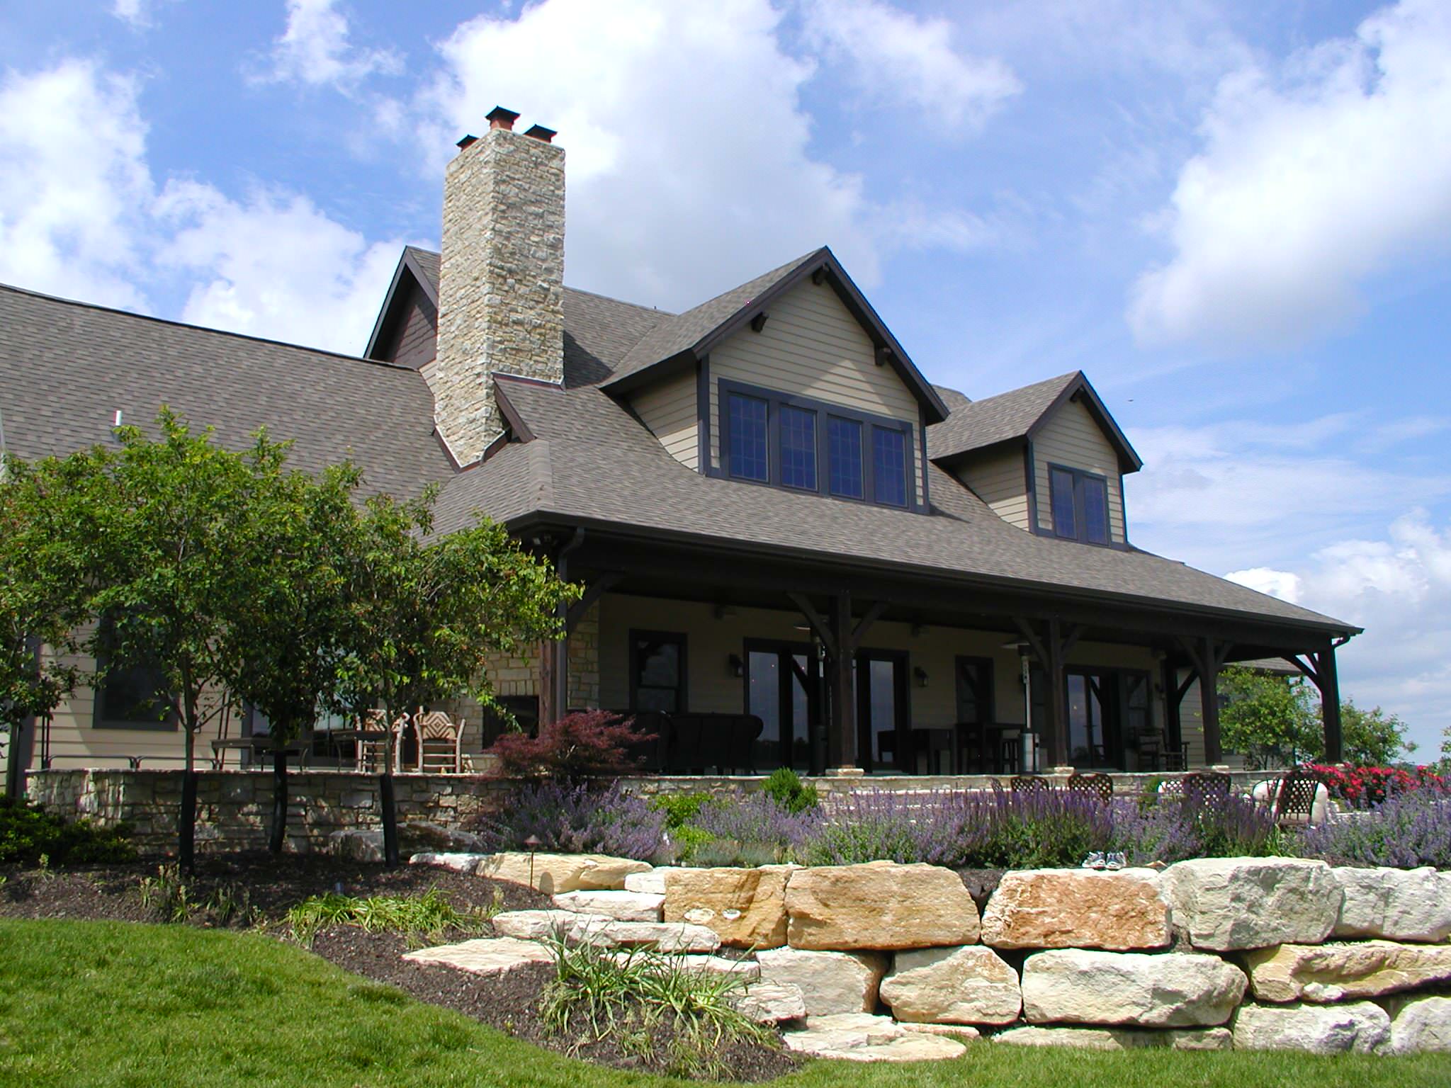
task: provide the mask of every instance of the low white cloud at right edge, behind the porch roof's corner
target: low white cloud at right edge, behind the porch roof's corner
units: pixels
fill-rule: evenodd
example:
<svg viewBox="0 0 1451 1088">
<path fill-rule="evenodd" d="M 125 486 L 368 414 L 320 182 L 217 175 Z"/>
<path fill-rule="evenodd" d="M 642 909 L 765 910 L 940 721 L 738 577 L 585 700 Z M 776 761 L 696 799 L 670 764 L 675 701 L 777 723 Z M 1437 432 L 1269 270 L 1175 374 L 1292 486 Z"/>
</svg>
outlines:
<svg viewBox="0 0 1451 1088">
<path fill-rule="evenodd" d="M 1342 696 L 1399 714 L 1418 759 L 1435 759 L 1451 724 L 1451 525 L 1416 511 L 1381 538 L 1332 544 L 1294 570 L 1228 577 L 1364 627 L 1339 651 Z"/>
</svg>

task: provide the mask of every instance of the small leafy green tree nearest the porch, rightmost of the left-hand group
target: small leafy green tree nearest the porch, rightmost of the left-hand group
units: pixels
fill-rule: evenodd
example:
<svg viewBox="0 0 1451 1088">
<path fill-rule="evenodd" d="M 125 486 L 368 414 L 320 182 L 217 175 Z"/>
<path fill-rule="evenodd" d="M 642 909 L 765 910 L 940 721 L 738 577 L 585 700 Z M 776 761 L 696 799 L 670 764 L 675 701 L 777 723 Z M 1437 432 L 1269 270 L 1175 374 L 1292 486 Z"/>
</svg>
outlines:
<svg viewBox="0 0 1451 1088">
<path fill-rule="evenodd" d="M 502 525 L 443 537 L 429 489 L 411 502 L 367 502 L 350 545 L 350 654 L 341 706 L 355 717 L 382 706 L 387 721 L 454 695 L 495 705 L 485 663 L 560 634 L 563 605 L 579 588 L 530 554 Z M 385 854 L 398 863 L 392 767 L 382 782 Z"/>
</svg>

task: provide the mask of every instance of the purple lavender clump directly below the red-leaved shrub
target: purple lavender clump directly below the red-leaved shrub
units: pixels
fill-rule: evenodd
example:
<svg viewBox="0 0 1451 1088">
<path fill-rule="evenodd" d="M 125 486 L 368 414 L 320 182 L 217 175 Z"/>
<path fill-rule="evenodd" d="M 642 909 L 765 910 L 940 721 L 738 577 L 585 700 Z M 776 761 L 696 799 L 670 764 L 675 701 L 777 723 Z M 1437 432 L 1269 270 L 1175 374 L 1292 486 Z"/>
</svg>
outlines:
<svg viewBox="0 0 1451 1088">
<path fill-rule="evenodd" d="M 540 850 L 654 857 L 665 814 L 643 798 L 609 785 L 530 782 L 514 789 L 498 815 L 482 817 L 473 831 L 490 850 L 524 850 L 531 836 Z"/>
</svg>

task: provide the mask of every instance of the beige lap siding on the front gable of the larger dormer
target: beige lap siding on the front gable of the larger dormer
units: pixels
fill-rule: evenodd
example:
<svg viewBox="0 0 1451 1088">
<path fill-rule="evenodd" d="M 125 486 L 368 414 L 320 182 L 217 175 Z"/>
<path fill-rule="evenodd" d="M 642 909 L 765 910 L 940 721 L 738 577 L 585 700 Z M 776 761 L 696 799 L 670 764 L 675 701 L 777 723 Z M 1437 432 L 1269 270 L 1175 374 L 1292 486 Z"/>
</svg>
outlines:
<svg viewBox="0 0 1451 1088">
<path fill-rule="evenodd" d="M 921 500 L 917 399 L 887 366 L 830 284 L 802 283 L 772 305 L 760 332 L 743 329 L 711 353 L 711 463 L 720 466 L 720 380 L 795 393 L 913 424 Z"/>
</svg>

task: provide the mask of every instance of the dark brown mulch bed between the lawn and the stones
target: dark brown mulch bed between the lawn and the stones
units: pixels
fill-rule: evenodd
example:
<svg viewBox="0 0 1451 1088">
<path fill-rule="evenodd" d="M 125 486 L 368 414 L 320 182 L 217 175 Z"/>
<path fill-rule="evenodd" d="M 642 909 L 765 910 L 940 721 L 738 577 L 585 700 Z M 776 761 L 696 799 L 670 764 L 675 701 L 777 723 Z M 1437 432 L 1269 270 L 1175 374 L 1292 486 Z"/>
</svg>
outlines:
<svg viewBox="0 0 1451 1088">
<path fill-rule="evenodd" d="M 157 862 L 103 866 L 68 866 L 52 870 L 22 870 L 0 866 L 0 918 L 73 918 L 110 921 L 163 921 L 155 907 L 141 897 L 144 879 L 157 878 Z M 525 885 L 482 876 L 402 866 L 347 862 L 332 857 L 228 854 L 202 857 L 197 872 L 186 879 L 187 899 L 196 904 L 190 923 L 203 927 L 260 928 L 280 940 L 292 940 L 286 912 L 309 895 L 421 895 L 437 888 L 457 910 L 528 910 L 550 907 L 550 898 Z M 218 904 L 234 910 L 218 910 Z M 210 905 L 209 905 L 210 904 Z M 444 934 L 438 941 L 463 940 L 479 933 Z M 488 936 L 488 933 L 482 934 Z M 451 1008 L 505 1034 L 560 1053 L 620 1069 L 663 1069 L 672 1033 L 657 1027 L 650 1046 L 628 1046 L 625 1033 L 605 1039 L 548 1037 L 538 1015 L 540 998 L 553 969 L 537 965 L 508 975 L 483 979 L 437 965 L 409 963 L 402 953 L 418 940 L 399 933 L 366 933 L 337 926 L 313 937 L 312 952 L 344 970 L 383 982 L 419 1001 Z M 646 1056 L 641 1056 L 641 1050 Z M 800 1066 L 794 1056 L 769 1047 L 737 1044 L 715 1052 L 733 1081 L 766 1081 Z"/>
</svg>

